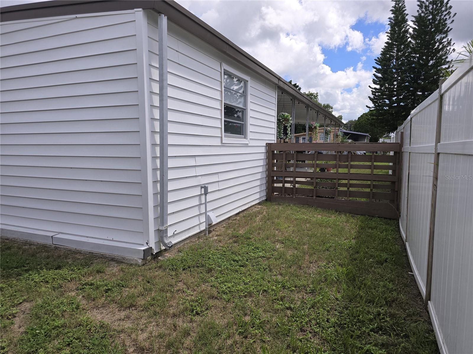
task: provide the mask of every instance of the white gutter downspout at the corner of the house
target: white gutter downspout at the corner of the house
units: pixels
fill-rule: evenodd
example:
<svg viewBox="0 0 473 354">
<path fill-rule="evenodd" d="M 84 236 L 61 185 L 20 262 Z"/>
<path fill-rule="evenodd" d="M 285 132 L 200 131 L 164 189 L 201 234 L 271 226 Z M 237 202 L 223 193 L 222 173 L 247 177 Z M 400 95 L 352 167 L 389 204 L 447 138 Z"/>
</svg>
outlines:
<svg viewBox="0 0 473 354">
<path fill-rule="evenodd" d="M 159 239 L 169 249 L 167 235 L 167 16 L 158 14 L 159 65 Z"/>
</svg>

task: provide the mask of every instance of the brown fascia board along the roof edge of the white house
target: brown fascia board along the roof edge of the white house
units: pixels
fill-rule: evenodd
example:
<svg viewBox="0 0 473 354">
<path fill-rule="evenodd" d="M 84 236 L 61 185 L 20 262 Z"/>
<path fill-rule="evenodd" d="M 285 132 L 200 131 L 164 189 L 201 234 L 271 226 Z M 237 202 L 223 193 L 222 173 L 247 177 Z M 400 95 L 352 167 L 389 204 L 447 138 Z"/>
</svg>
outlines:
<svg viewBox="0 0 473 354">
<path fill-rule="evenodd" d="M 7 22 L 44 17 L 124 11 L 135 8 L 149 9 L 165 14 L 171 22 L 199 37 L 218 51 L 226 53 L 244 66 L 251 68 L 273 84 L 277 84 L 282 91 L 295 97 L 298 101 L 319 111 L 334 122 L 343 125 L 343 122 L 332 113 L 310 100 L 269 67 L 263 65 L 235 43 L 210 27 L 210 25 L 172 0 L 53 0 L 33 2 L 0 8 L 0 21 Z"/>
</svg>

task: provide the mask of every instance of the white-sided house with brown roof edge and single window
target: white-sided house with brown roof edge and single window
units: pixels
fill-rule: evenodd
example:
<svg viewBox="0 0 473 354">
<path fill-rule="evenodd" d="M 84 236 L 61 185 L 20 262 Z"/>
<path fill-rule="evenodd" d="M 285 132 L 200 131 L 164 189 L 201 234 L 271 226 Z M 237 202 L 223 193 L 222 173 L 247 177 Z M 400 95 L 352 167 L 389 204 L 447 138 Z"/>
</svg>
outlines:
<svg viewBox="0 0 473 354">
<path fill-rule="evenodd" d="M 146 258 L 202 185 L 213 222 L 266 198 L 278 113 L 342 125 L 173 1 L 4 7 L 0 40 L 3 236 Z"/>
</svg>

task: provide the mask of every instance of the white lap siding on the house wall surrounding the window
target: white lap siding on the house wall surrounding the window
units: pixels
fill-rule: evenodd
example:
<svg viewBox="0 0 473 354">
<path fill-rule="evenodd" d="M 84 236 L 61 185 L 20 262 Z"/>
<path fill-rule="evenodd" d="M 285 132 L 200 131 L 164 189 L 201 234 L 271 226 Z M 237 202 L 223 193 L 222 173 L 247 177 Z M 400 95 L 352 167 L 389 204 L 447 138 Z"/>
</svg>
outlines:
<svg viewBox="0 0 473 354">
<path fill-rule="evenodd" d="M 158 23 L 149 13 L 149 76 L 155 234 L 158 237 Z M 221 62 L 251 78 L 249 145 L 222 144 Z M 266 198 L 266 147 L 275 141 L 275 86 L 168 23 L 168 234 L 180 241 L 205 228 L 208 208 L 223 220 Z"/>
</svg>

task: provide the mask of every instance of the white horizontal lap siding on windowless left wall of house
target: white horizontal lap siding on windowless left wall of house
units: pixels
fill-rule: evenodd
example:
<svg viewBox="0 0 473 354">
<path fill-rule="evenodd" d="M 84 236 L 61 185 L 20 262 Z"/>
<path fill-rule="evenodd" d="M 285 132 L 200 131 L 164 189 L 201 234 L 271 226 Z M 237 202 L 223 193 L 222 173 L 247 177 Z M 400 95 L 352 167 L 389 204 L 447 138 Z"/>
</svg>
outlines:
<svg viewBox="0 0 473 354">
<path fill-rule="evenodd" d="M 134 12 L 1 25 L 2 224 L 143 244 Z"/>
</svg>

